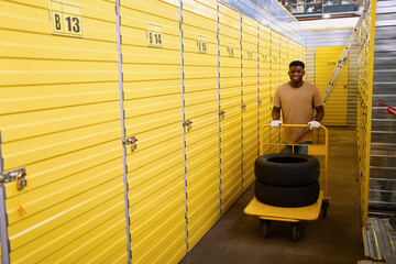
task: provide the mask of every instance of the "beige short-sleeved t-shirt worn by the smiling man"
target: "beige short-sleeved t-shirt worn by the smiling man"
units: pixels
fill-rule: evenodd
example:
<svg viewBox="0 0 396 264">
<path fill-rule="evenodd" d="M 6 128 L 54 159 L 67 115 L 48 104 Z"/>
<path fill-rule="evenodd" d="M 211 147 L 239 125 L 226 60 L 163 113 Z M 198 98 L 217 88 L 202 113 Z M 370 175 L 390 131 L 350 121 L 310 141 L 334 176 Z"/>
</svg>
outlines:
<svg viewBox="0 0 396 264">
<path fill-rule="evenodd" d="M 286 124 L 308 124 L 314 120 L 315 107 L 323 105 L 318 87 L 304 81 L 301 87 L 293 88 L 289 82 L 276 88 L 274 107 L 280 107 Z M 284 141 L 290 144 L 312 141 L 309 128 L 285 128 Z"/>
</svg>

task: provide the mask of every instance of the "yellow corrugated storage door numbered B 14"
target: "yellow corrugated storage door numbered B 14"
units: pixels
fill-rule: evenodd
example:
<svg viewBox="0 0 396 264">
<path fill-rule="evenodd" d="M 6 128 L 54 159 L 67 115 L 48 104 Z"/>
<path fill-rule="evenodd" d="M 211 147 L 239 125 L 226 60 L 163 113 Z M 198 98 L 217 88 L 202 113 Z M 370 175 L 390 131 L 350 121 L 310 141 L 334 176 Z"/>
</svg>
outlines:
<svg viewBox="0 0 396 264">
<path fill-rule="evenodd" d="M 128 199 L 133 263 L 186 253 L 179 7 L 121 1 Z"/>
</svg>

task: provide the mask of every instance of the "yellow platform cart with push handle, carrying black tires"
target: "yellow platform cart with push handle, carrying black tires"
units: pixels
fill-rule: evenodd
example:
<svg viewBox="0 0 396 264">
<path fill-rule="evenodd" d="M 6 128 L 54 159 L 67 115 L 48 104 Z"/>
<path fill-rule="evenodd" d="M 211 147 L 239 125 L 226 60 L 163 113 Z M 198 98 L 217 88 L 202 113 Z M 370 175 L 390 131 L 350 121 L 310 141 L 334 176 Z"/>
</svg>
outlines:
<svg viewBox="0 0 396 264">
<path fill-rule="evenodd" d="M 272 129 L 268 125 L 263 125 L 260 130 L 260 155 L 270 153 L 280 153 L 286 145 L 282 141 L 282 128 L 309 128 L 308 124 L 282 124 L 280 129 Z M 264 135 L 265 132 L 265 135 Z M 312 221 L 318 219 L 320 210 L 322 217 L 326 218 L 329 208 L 330 197 L 328 195 L 328 130 L 320 125 L 315 131 L 315 142 L 308 146 L 308 155 L 322 156 L 322 164 L 320 168 L 321 187 L 318 200 L 306 207 L 274 207 L 258 201 L 255 197 L 245 207 L 244 213 L 256 216 L 261 219 L 264 238 L 270 238 L 271 222 L 284 221 L 290 222 L 293 240 L 298 240 L 301 231 L 301 221 Z"/>
</svg>

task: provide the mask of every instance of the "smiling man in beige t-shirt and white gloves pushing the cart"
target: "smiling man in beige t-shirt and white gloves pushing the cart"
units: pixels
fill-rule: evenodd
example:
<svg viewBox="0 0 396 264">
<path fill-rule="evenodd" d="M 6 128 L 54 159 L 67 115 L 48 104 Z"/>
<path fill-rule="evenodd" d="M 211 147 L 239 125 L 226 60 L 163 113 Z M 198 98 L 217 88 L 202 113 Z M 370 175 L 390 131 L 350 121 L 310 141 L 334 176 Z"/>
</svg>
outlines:
<svg viewBox="0 0 396 264">
<path fill-rule="evenodd" d="M 285 129 L 284 141 L 288 144 L 312 144 L 312 129 L 320 127 L 320 121 L 324 117 L 323 101 L 318 87 L 302 80 L 305 75 L 305 64 L 294 61 L 289 64 L 288 75 L 290 81 L 276 88 L 274 97 L 274 107 L 272 110 L 272 128 L 278 128 L 282 124 L 280 109 L 283 120 L 287 124 L 306 124 L 308 128 L 288 128 Z M 316 110 L 316 116 L 314 116 Z M 288 152 L 308 154 L 308 146 L 286 146 Z"/>
</svg>

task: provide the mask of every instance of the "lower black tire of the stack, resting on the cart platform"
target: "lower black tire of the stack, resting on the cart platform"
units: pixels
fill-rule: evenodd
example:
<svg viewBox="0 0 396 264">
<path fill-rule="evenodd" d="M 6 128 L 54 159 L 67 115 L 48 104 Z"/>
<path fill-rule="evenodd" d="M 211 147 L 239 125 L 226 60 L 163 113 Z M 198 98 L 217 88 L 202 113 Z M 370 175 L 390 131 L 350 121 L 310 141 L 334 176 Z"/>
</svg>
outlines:
<svg viewBox="0 0 396 264">
<path fill-rule="evenodd" d="M 299 187 L 280 187 L 255 182 L 254 195 L 263 204 L 276 207 L 304 207 L 319 198 L 319 183 Z"/>
</svg>

